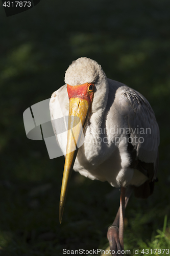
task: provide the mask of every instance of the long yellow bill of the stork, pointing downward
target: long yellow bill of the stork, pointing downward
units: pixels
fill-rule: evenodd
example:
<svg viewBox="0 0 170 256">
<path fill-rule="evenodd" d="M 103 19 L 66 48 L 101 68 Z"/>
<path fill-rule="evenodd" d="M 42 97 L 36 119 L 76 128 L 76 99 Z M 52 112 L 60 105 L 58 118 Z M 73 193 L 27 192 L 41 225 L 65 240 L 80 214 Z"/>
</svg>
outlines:
<svg viewBox="0 0 170 256">
<path fill-rule="evenodd" d="M 67 133 L 67 148 L 65 165 L 63 172 L 63 180 L 60 195 L 59 220 L 62 221 L 64 205 L 68 190 L 72 167 L 74 166 L 78 148 L 81 145 L 83 135 L 83 127 L 86 123 L 89 113 L 89 103 L 83 98 L 69 99 L 69 118 L 68 118 L 68 133 Z"/>
</svg>

